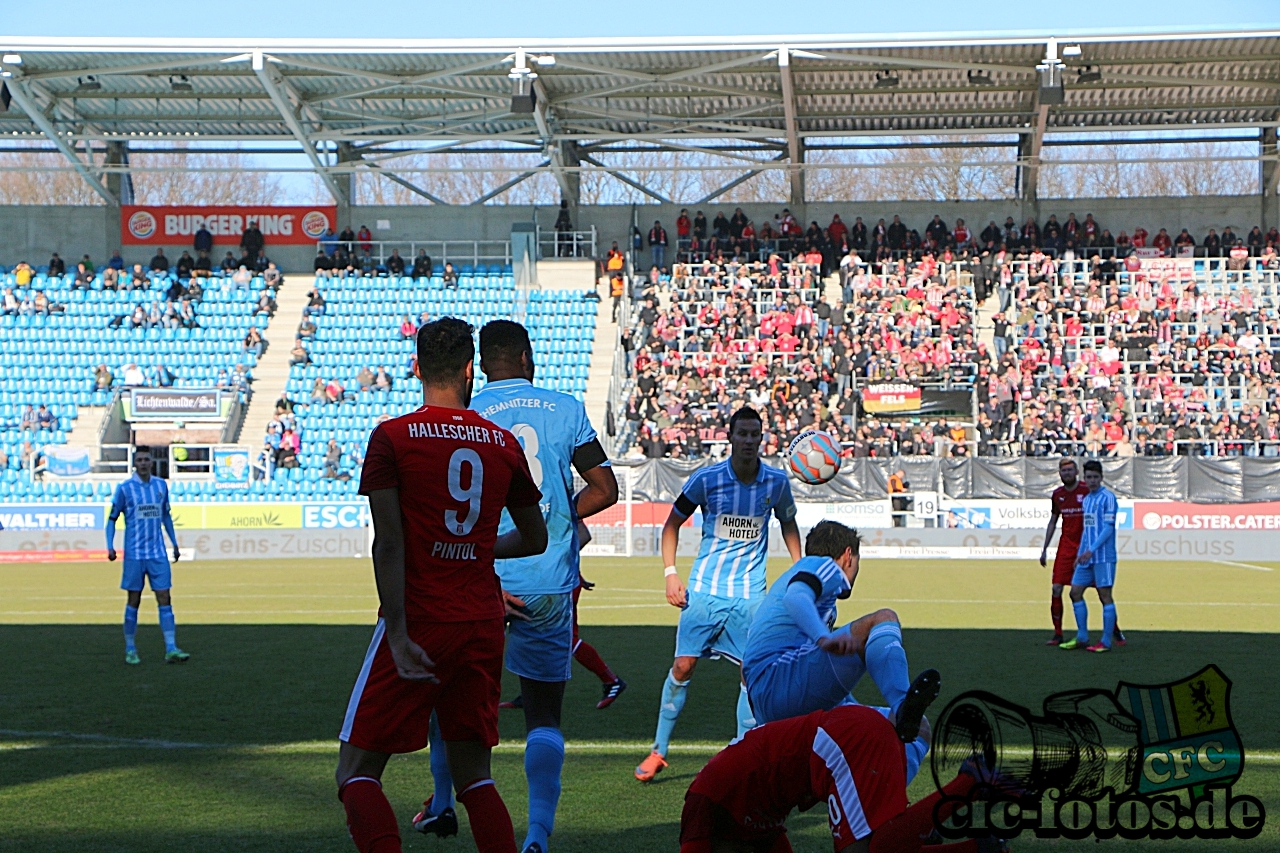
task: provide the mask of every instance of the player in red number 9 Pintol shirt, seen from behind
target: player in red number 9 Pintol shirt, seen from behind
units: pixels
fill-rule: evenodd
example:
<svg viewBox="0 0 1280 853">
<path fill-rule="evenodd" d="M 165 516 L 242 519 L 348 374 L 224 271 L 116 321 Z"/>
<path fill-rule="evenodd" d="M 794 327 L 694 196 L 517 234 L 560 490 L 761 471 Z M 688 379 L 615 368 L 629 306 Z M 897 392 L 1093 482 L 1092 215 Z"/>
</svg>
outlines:
<svg viewBox="0 0 1280 853">
<path fill-rule="evenodd" d="M 360 492 L 374 520 L 378 626 L 351 692 L 338 752 L 338 798 L 360 853 L 399 853 L 381 775 L 394 753 L 448 744 L 480 853 L 515 853 L 511 815 L 489 768 L 498 743 L 503 606 L 495 558 L 547 547 L 547 525 L 520 442 L 467 410 L 475 345 L 454 318 L 417 333 L 422 406 L 369 439 Z M 498 534 L 502 510 L 513 529 Z"/>
</svg>

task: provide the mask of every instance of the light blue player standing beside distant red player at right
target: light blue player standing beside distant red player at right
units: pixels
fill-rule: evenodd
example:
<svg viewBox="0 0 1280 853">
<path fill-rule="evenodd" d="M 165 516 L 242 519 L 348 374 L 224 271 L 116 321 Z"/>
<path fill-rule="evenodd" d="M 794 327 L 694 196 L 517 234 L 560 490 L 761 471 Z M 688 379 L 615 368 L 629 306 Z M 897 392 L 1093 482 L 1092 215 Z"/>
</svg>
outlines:
<svg viewBox="0 0 1280 853">
<path fill-rule="evenodd" d="M 1116 605 L 1111 588 L 1116 583 L 1116 510 L 1115 492 L 1102 485 L 1102 462 L 1091 459 L 1084 464 L 1084 533 L 1075 555 L 1075 574 L 1071 575 L 1071 607 L 1075 610 L 1075 638 L 1059 646 L 1071 651 L 1110 652 L 1116 630 Z M 1102 602 L 1102 640 L 1089 646 L 1089 606 L 1084 603 L 1084 590 L 1098 588 Z"/>
</svg>

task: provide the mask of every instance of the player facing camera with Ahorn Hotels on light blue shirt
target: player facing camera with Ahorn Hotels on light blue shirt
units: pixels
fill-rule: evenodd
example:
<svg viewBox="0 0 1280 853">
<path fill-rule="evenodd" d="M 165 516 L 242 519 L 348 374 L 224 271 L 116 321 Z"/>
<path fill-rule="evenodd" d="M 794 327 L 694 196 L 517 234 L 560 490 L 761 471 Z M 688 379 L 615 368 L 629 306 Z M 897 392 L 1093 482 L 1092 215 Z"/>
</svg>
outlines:
<svg viewBox="0 0 1280 853">
<path fill-rule="evenodd" d="M 742 663 L 748 630 L 764 599 L 771 512 L 782 526 L 791 560 L 800 558 L 791 483 L 785 473 L 760 462 L 762 437 L 759 412 L 750 406 L 733 412 L 728 421 L 730 457 L 689 478 L 662 528 L 667 602 L 684 610 L 676 630 L 676 660 L 662 686 L 653 751 L 635 771 L 640 781 L 652 781 L 667 766 L 671 733 L 685 707 L 698 660 L 719 656 Z M 699 507 L 703 542 L 686 589 L 676 574 L 676 547 L 680 525 Z M 754 725 L 742 684 L 737 697 L 739 736 Z"/>
</svg>

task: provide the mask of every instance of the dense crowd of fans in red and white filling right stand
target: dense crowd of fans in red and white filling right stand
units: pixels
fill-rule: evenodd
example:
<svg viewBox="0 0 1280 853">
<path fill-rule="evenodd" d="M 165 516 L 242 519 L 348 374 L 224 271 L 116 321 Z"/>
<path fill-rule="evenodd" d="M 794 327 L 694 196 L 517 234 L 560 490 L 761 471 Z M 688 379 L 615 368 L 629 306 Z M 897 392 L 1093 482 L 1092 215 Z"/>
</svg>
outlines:
<svg viewBox="0 0 1280 853">
<path fill-rule="evenodd" d="M 654 223 L 623 336 L 623 447 L 722 455 L 728 414 L 750 403 L 767 412 L 765 453 L 806 428 L 850 456 L 1277 453 L 1276 228 L 776 219 L 756 231 L 741 209 L 710 225 L 685 210 L 673 241 Z M 877 382 L 972 391 L 973 406 L 876 416 L 859 389 Z"/>
</svg>

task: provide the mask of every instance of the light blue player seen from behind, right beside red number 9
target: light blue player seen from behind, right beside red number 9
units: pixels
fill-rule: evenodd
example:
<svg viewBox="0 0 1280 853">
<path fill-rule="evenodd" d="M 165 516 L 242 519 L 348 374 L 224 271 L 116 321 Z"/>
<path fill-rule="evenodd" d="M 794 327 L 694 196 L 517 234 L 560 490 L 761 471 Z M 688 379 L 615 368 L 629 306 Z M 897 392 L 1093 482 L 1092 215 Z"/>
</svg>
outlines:
<svg viewBox="0 0 1280 853">
<path fill-rule="evenodd" d="M 471 401 L 481 418 L 511 430 L 524 447 L 534 485 L 541 489 L 547 551 L 498 560 L 506 594 L 529 619 L 507 630 L 507 670 L 520 676 L 525 711 L 525 776 L 529 780 L 529 834 L 525 853 L 547 853 L 556 824 L 564 765 L 561 711 L 573 662 L 573 599 L 579 574 L 579 520 L 618 501 L 618 482 L 586 409 L 573 396 L 538 388 L 529 332 L 511 320 L 480 329 L 480 369 L 488 384 Z M 573 494 L 573 471 L 586 488 Z M 507 517 L 499 532 L 512 528 Z M 433 817 L 452 806 L 449 779 L 435 779 L 435 793 L 413 824 L 435 833 Z M 448 798 L 448 799 L 447 799 Z"/>
</svg>

